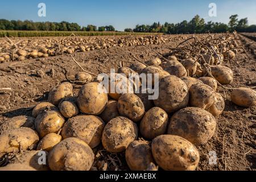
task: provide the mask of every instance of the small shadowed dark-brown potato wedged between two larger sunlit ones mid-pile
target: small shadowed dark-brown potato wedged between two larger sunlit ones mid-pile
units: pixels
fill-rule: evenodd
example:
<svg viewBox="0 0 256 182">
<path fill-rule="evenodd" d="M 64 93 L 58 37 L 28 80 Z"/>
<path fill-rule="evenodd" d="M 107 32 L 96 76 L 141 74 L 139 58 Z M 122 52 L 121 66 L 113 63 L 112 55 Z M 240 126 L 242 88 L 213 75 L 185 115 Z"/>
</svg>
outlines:
<svg viewBox="0 0 256 182">
<path fill-rule="evenodd" d="M 117 101 L 110 100 L 106 105 L 105 110 L 101 113 L 100 117 L 104 122 L 108 123 L 111 119 L 118 117 L 119 112 L 117 108 Z"/>
</svg>

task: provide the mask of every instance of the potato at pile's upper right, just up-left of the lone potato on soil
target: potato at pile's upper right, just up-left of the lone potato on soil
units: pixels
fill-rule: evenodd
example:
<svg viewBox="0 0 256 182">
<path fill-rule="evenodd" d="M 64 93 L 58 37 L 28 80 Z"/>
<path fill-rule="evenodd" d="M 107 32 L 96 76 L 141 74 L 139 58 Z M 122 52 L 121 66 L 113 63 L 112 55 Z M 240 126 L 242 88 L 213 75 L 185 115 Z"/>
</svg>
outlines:
<svg viewBox="0 0 256 182">
<path fill-rule="evenodd" d="M 212 75 L 220 84 L 227 85 L 233 82 L 233 71 L 222 65 L 217 65 L 210 68 Z"/>
</svg>

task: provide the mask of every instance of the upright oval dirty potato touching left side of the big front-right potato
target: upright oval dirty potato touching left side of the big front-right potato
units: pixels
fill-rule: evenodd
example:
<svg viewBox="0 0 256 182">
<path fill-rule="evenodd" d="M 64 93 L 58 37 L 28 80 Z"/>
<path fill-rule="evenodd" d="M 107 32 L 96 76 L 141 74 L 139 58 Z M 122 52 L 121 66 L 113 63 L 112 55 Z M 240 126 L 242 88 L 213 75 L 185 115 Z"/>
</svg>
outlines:
<svg viewBox="0 0 256 182">
<path fill-rule="evenodd" d="M 166 133 L 168 114 L 160 107 L 153 107 L 144 115 L 139 131 L 144 138 L 155 138 Z"/>
</svg>

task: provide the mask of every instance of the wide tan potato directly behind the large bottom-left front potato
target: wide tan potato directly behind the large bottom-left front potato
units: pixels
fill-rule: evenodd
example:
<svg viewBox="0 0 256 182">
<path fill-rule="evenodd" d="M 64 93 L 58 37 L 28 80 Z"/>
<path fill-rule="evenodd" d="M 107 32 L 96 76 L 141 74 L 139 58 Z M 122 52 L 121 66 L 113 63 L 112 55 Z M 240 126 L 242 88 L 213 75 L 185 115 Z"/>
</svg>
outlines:
<svg viewBox="0 0 256 182">
<path fill-rule="evenodd" d="M 105 123 L 95 115 L 77 115 L 69 118 L 61 130 L 61 136 L 66 139 L 76 137 L 83 140 L 91 148 L 101 142 L 102 131 Z"/>
</svg>

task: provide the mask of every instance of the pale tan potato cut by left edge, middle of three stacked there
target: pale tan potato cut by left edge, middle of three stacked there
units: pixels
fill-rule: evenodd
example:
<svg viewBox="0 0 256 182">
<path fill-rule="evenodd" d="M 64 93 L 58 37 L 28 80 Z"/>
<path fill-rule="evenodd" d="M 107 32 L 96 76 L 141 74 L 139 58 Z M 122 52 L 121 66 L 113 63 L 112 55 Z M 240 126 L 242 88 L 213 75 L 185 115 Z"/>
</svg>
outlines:
<svg viewBox="0 0 256 182">
<path fill-rule="evenodd" d="M 32 149 L 38 141 L 38 134 L 28 127 L 7 130 L 0 135 L 0 157 L 10 152 Z"/>
</svg>

